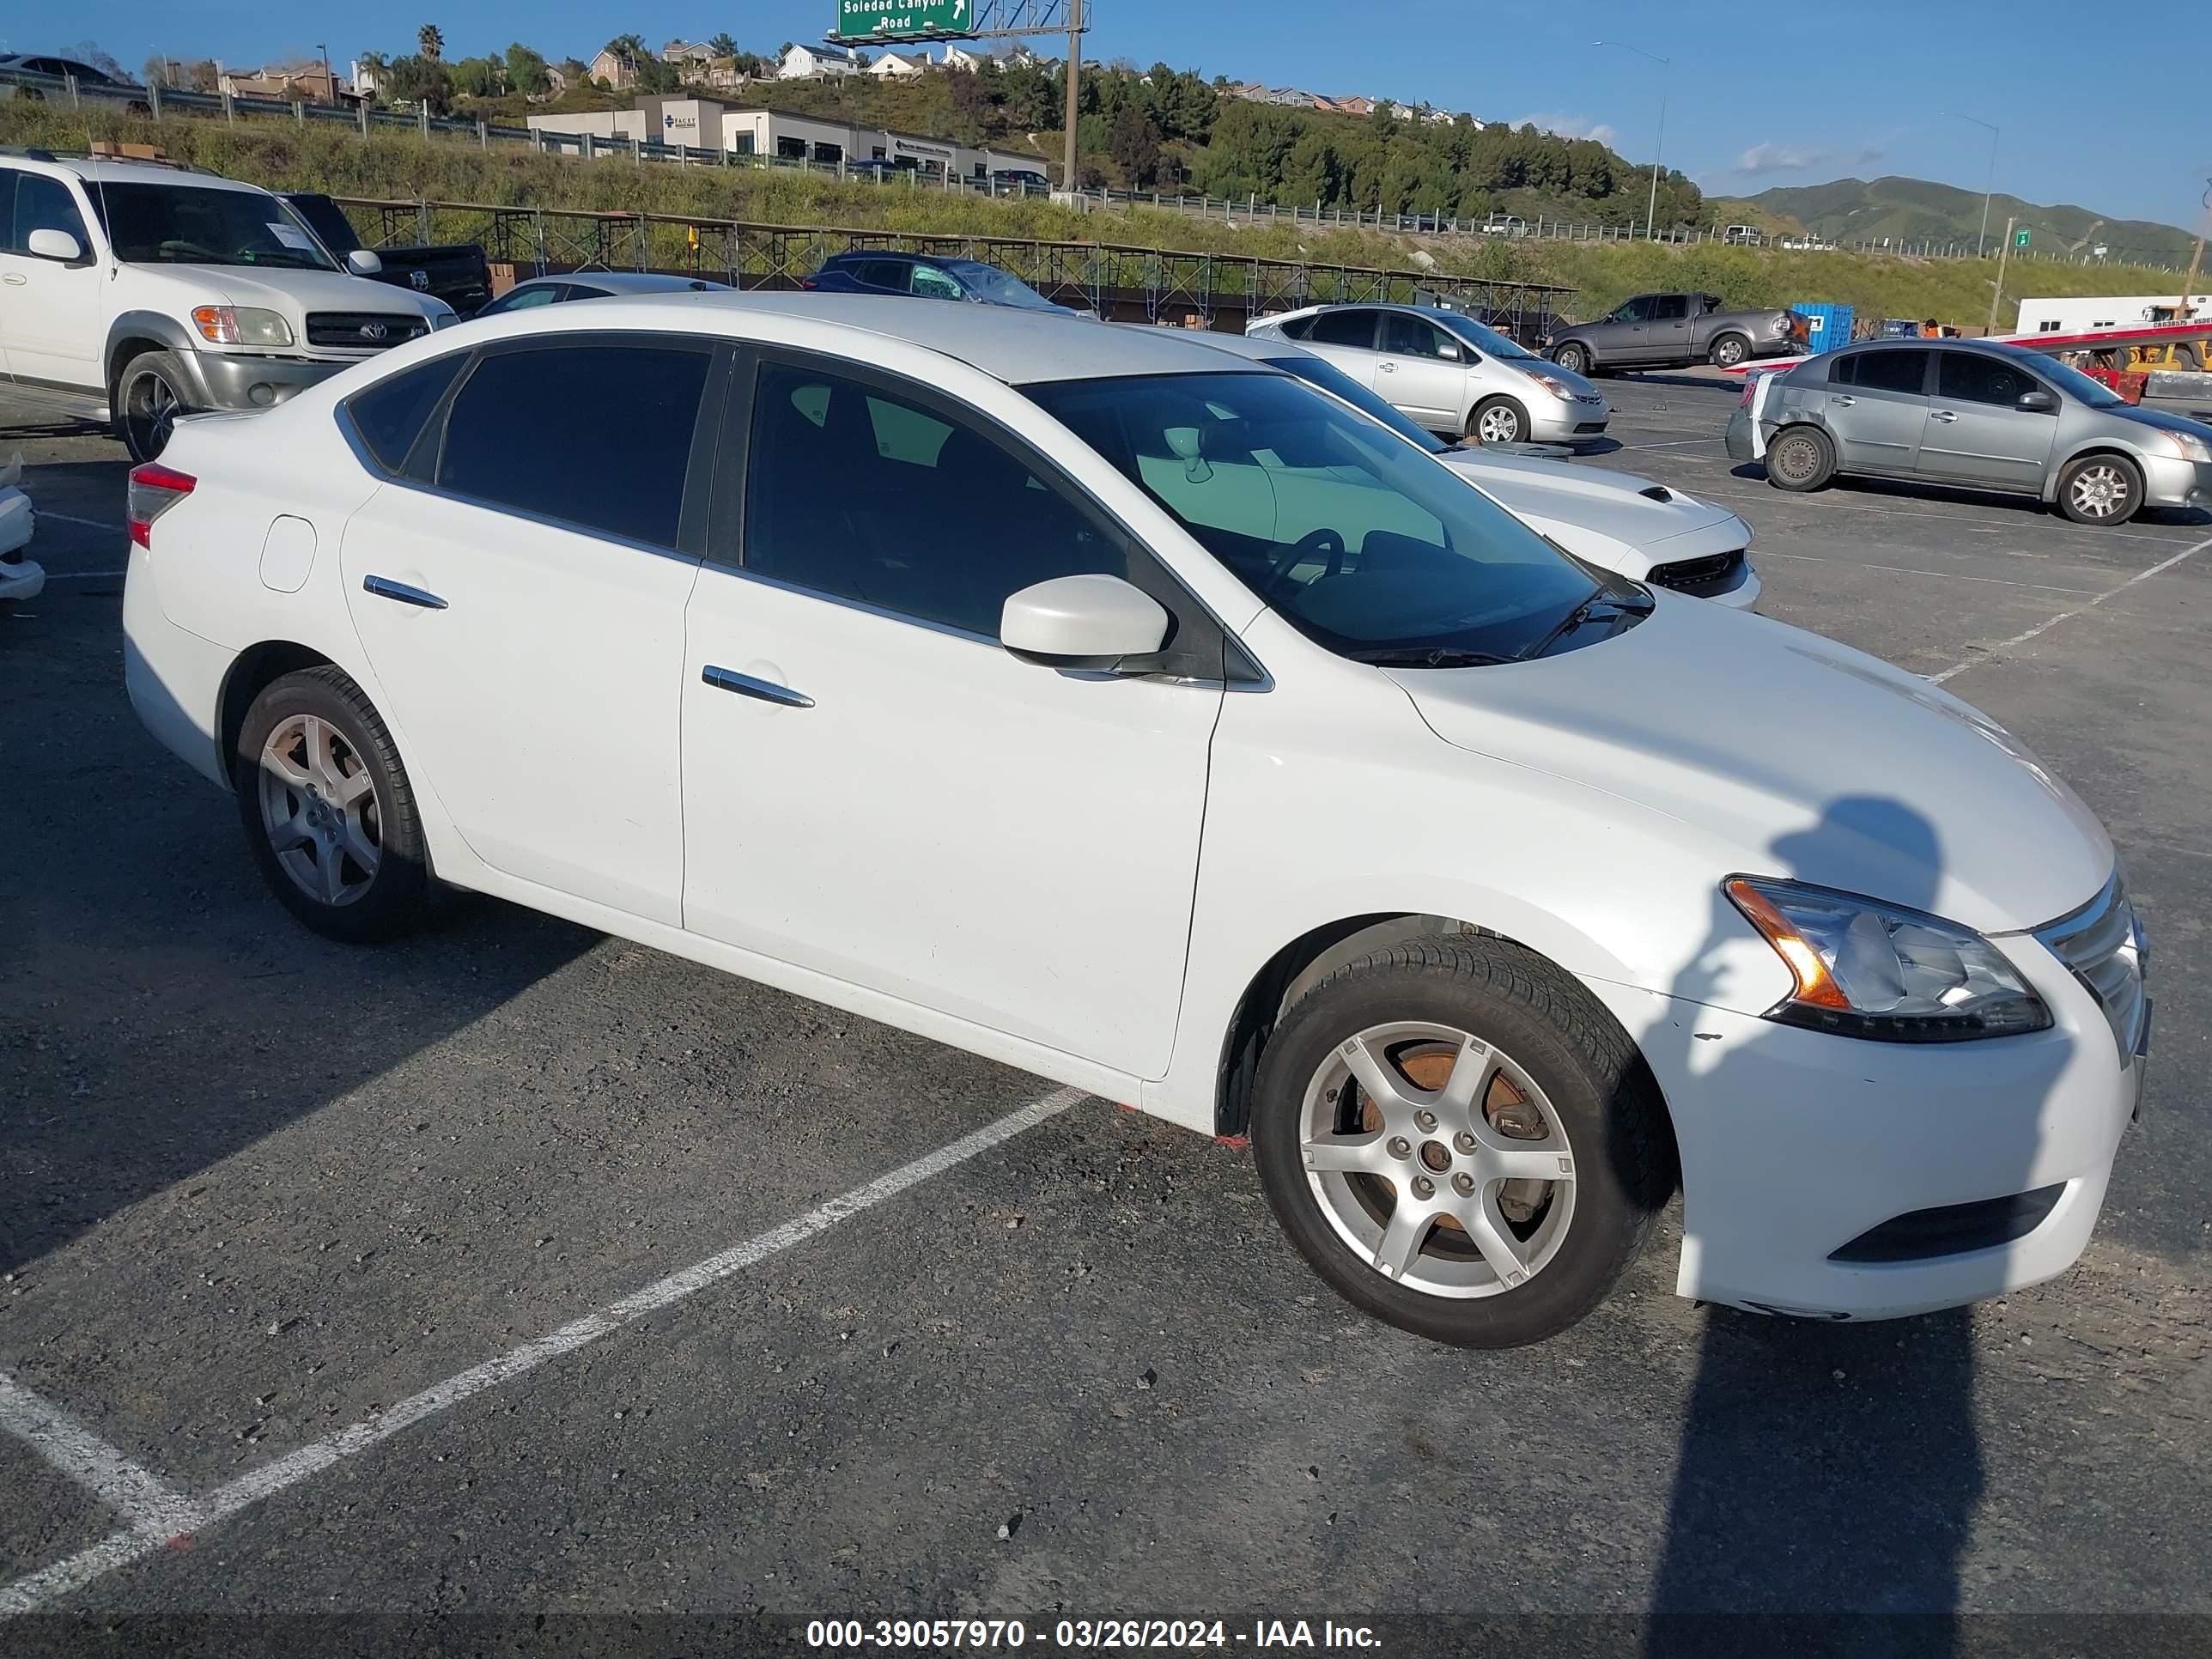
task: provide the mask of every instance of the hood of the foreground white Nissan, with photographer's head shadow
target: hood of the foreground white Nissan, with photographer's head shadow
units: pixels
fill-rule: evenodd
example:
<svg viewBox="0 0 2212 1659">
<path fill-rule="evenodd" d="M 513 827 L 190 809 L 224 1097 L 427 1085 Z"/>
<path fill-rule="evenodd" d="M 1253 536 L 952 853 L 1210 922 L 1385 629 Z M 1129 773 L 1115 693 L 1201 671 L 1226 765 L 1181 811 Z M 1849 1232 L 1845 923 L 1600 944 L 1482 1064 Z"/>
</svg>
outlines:
<svg viewBox="0 0 2212 1659">
<path fill-rule="evenodd" d="M 1980 710 L 1781 622 L 1655 597 L 1582 650 L 1387 672 L 1447 743 L 1701 832 L 1730 865 L 1714 880 L 1790 876 L 2004 933 L 2112 874 L 2104 825 Z"/>
</svg>

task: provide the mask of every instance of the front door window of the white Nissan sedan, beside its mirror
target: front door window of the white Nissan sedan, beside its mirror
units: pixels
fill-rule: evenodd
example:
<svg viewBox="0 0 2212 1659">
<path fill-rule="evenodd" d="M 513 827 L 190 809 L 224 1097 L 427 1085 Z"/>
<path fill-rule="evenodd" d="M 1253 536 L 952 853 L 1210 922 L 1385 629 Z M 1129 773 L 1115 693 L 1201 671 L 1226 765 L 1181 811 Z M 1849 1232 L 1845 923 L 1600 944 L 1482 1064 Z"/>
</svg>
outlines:
<svg viewBox="0 0 2212 1659">
<path fill-rule="evenodd" d="M 790 363 L 752 398 L 743 564 L 984 639 L 1035 582 L 1128 575 L 1119 538 L 982 431 Z"/>
</svg>

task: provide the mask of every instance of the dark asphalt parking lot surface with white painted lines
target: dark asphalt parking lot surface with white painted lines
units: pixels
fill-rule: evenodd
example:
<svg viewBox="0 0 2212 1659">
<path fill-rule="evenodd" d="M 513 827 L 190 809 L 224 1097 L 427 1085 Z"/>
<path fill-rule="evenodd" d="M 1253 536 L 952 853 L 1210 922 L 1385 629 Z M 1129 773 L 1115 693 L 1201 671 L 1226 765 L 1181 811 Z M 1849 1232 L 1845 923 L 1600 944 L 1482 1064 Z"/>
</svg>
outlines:
<svg viewBox="0 0 2212 1659">
<path fill-rule="evenodd" d="M 1155 1615 L 1613 1652 L 1703 1613 L 2201 1652 L 2212 518 L 1783 495 L 1721 449 L 1734 385 L 1606 385 L 1590 465 L 1743 513 L 1763 611 L 1942 679 L 2110 825 L 2157 1042 L 2070 1274 L 1756 1321 L 1672 1296 L 1670 1225 L 1568 1336 L 1449 1352 L 1336 1303 L 1248 1152 L 1110 1102 L 495 902 L 323 942 L 124 701 L 122 451 L 0 398 L 53 577 L 0 617 L 0 1646 Z"/>
</svg>

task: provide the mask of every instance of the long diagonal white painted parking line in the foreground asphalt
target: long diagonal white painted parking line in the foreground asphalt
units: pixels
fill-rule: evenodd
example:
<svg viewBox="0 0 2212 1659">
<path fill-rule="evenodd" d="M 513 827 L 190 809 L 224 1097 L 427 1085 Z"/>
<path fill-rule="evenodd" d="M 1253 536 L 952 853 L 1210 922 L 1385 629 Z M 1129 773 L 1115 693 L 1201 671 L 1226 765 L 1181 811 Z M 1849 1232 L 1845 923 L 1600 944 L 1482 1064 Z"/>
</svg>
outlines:
<svg viewBox="0 0 2212 1659">
<path fill-rule="evenodd" d="M 1082 1088 L 1055 1091 L 1044 1099 L 1035 1099 L 1020 1110 L 1006 1113 L 993 1124 L 984 1124 L 982 1128 L 962 1135 L 949 1146 L 940 1146 L 936 1152 L 925 1152 L 911 1164 L 900 1164 L 889 1175 L 878 1175 L 874 1181 L 856 1186 L 852 1192 L 843 1192 L 827 1203 L 785 1221 L 781 1228 L 757 1232 L 752 1239 L 730 1245 L 721 1254 L 708 1256 L 706 1261 L 684 1267 L 681 1272 L 672 1272 L 666 1279 L 655 1279 L 644 1290 L 633 1290 L 622 1301 L 584 1314 L 582 1318 L 562 1325 L 557 1332 L 549 1332 L 531 1343 L 524 1343 L 522 1347 L 500 1354 L 493 1360 L 484 1360 L 482 1365 L 476 1365 L 458 1376 L 449 1376 L 445 1383 L 436 1383 L 414 1398 L 400 1400 L 392 1409 L 367 1418 L 365 1422 L 347 1425 L 345 1429 L 323 1436 L 299 1451 L 285 1453 L 283 1458 L 261 1464 L 259 1469 L 250 1469 L 230 1484 L 217 1486 L 206 1498 L 179 1498 L 179 1511 L 166 1528 L 148 1531 L 135 1526 L 113 1533 L 97 1544 L 77 1551 L 69 1559 L 55 1562 L 53 1566 L 29 1573 L 13 1584 L 0 1586 L 0 1619 L 18 1613 L 33 1613 L 71 1590 L 82 1590 L 93 1579 L 161 1551 L 179 1535 L 228 1520 L 241 1509 L 259 1504 L 263 1498 L 274 1498 L 288 1486 L 296 1486 L 310 1475 L 319 1475 L 332 1464 L 389 1440 L 400 1433 L 400 1429 L 409 1429 L 425 1418 L 449 1411 L 462 1400 L 471 1400 L 487 1389 L 495 1389 L 500 1383 L 511 1383 L 518 1376 L 535 1371 L 546 1360 L 560 1358 L 562 1354 L 575 1354 L 580 1347 L 597 1343 L 602 1336 L 622 1329 L 635 1318 L 670 1307 L 688 1296 L 697 1296 L 708 1285 L 717 1285 L 732 1274 L 741 1274 L 748 1267 L 790 1250 L 792 1245 L 805 1243 L 818 1232 L 827 1232 L 838 1221 L 847 1221 L 863 1210 L 872 1210 L 885 1199 L 898 1197 L 907 1188 L 936 1179 L 938 1175 L 967 1164 L 971 1157 L 989 1152 L 1002 1141 L 1011 1141 L 1024 1128 L 1035 1128 L 1044 1119 L 1057 1117 L 1082 1099 L 1086 1099 Z M 148 1480 L 153 1478 L 148 1475 Z"/>
</svg>

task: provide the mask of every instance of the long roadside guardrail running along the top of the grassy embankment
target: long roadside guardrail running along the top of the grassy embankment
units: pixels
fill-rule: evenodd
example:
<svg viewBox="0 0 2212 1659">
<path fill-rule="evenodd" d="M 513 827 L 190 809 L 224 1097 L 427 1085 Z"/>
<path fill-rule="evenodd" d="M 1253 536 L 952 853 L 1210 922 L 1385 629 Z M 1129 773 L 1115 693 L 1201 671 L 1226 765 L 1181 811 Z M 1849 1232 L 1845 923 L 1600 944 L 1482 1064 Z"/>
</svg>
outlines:
<svg viewBox="0 0 2212 1659">
<path fill-rule="evenodd" d="M 1210 195 L 1168 195 L 1161 190 L 1075 190 L 1075 192 L 1053 192 L 1037 186 L 1013 186 L 1000 184 L 995 179 L 964 179 L 958 175 L 920 175 L 909 168 L 847 168 L 843 161 L 812 161 L 801 157 L 779 157 L 779 155 L 741 155 L 737 150 L 699 148 L 692 144 L 664 144 L 659 139 L 617 139 L 617 137 L 595 137 L 591 133 L 551 133 L 531 126 L 493 126 L 487 122 L 456 122 L 431 117 L 427 108 L 416 108 L 411 115 L 398 115 L 394 111 L 372 111 L 365 104 L 358 108 L 332 106 L 332 104 L 310 104 L 310 102 L 283 102 L 274 97 L 239 97 L 232 93 L 192 93 L 177 86 L 93 86 L 91 82 L 77 82 L 73 75 L 33 75 L 27 71 L 4 71 L 0 73 L 0 88 L 15 86 L 18 95 L 31 91 L 38 97 L 66 100 L 73 108 L 84 104 L 124 104 L 133 113 L 146 113 L 153 119 L 161 119 L 168 113 L 190 113 L 190 115 L 217 115 L 226 122 L 248 119 L 288 119 L 299 126 L 314 124 L 341 124 L 354 126 L 367 137 L 372 131 L 414 131 L 425 137 L 447 135 L 476 139 L 478 146 L 489 148 L 493 144 L 520 144 L 544 155 L 575 155 L 582 159 L 599 157 L 622 157 L 628 161 L 661 161 L 675 166 L 750 166 L 750 168 L 772 168 L 790 173 L 812 173 L 818 177 L 836 177 L 847 184 L 874 184 L 887 190 L 914 190 L 914 188 L 936 188 L 936 190 L 969 190 L 978 195 L 993 197 L 1020 197 L 1020 195 L 1068 195 L 1077 206 L 1097 204 L 1102 208 L 1110 206 L 1141 206 L 1157 208 L 1161 212 L 1181 212 L 1194 219 L 1219 219 L 1221 223 L 1281 223 L 1292 226 L 1310 223 L 1321 228 L 1369 228 L 1369 230 L 1396 230 L 1429 237 L 1475 237 L 1475 239 L 1506 239 L 1506 241 L 1659 241 L 1674 248 L 1694 246 L 1783 246 L 1792 239 L 1763 237 L 1743 239 L 1730 237 L 1723 228 L 1699 228 L 1699 226 L 1670 226 L 1657 237 L 1650 228 L 1637 219 L 1628 223 L 1586 223 L 1586 221 L 1564 221 L 1564 219 L 1524 219 L 1517 223 L 1500 223 L 1495 217 L 1489 221 L 1460 219 L 1449 215 L 1420 215 L 1420 212 L 1380 212 L 1380 210 L 1358 210 L 1358 208 L 1323 208 L 1323 206 L 1281 206 L 1272 201 L 1261 201 L 1256 195 L 1248 195 L 1243 201 L 1230 197 Z M 1975 259 L 1975 250 L 1969 241 L 1938 241 L 1938 239 L 1851 239 L 1851 241 L 1814 241 L 1812 252 L 1867 252 L 1867 254 L 1893 254 L 1900 259 Z M 1995 250 L 1989 250 L 1995 254 Z M 2157 259 L 2126 259 L 2126 250 L 2117 257 L 2119 263 L 2137 263 L 2148 270 L 2179 270 Z M 2015 261 L 2055 261 L 2055 263 L 2093 263 L 2086 257 L 2059 254 L 2053 250 L 2031 248 L 2015 254 Z"/>
</svg>

